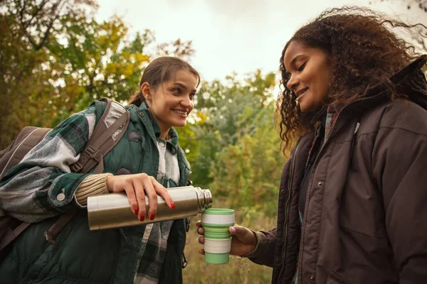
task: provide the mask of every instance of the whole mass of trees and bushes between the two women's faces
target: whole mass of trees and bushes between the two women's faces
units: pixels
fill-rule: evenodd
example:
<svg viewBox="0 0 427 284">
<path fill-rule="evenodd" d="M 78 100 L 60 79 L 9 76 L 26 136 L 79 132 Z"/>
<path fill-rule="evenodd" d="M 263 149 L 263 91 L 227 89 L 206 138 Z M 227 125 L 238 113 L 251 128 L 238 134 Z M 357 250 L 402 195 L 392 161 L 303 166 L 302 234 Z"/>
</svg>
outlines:
<svg viewBox="0 0 427 284">
<path fill-rule="evenodd" d="M 194 185 L 209 188 L 245 219 L 258 209 L 275 216 L 285 158 L 273 122 L 274 87 L 275 75 L 259 70 L 243 81 L 231 75 L 204 83 L 191 123 L 178 129 Z"/>
</svg>

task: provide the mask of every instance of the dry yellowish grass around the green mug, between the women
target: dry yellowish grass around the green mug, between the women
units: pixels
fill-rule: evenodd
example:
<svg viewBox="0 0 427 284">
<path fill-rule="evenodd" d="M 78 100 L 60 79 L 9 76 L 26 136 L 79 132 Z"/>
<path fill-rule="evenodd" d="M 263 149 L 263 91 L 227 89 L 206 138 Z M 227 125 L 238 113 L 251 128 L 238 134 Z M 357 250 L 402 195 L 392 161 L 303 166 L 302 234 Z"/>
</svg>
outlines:
<svg viewBox="0 0 427 284">
<path fill-rule="evenodd" d="M 223 208 L 226 202 L 216 202 L 214 207 Z M 235 209 L 236 223 L 255 231 L 268 231 L 276 226 L 275 218 L 265 217 L 262 212 L 254 212 L 242 207 Z M 260 266 L 248 258 L 230 256 L 227 264 L 215 265 L 204 262 L 204 256 L 199 254 L 203 245 L 199 244 L 199 234 L 196 231 L 196 222 L 200 215 L 191 218 L 190 231 L 186 236 L 185 255 L 189 261 L 183 270 L 184 284 L 225 284 L 225 283 L 270 283 L 272 268 Z M 272 256 L 273 257 L 273 256 Z"/>
</svg>

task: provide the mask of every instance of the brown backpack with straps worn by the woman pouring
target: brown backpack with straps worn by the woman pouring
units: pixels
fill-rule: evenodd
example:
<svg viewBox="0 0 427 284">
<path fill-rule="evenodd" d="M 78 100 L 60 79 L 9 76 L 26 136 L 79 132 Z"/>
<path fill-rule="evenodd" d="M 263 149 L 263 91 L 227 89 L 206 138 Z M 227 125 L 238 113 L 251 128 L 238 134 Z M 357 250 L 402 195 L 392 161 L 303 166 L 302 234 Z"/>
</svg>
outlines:
<svg viewBox="0 0 427 284">
<path fill-rule="evenodd" d="M 105 103 L 106 102 L 106 107 Z M 114 107 L 112 105 L 114 104 Z M 73 173 L 89 173 L 95 165 L 93 173 L 102 173 L 104 170 L 103 157 L 110 152 L 125 134 L 129 125 L 130 114 L 125 107 L 111 99 L 102 98 L 95 101 L 96 108 L 96 126 L 85 149 L 80 153 L 80 158 L 70 170 Z M 117 118 L 110 126 L 107 125 L 106 119 L 113 113 L 120 111 L 121 116 Z M 101 116 L 102 114 L 102 116 Z M 125 130 L 125 131 L 123 131 Z M 45 138 L 51 129 L 26 126 L 16 136 L 14 141 L 4 150 L 0 151 L 0 179 L 14 166 L 17 165 L 23 157 L 34 146 Z M 118 133 L 116 133 L 118 132 Z M 113 136 L 113 134 L 115 134 Z M 55 224 L 44 233 L 46 241 L 55 244 L 56 236 L 63 227 L 73 218 L 76 209 L 61 214 Z M 14 217 L 7 216 L 0 209 L 0 262 L 6 258 L 12 246 L 9 246 L 30 224 L 21 222 Z"/>
</svg>

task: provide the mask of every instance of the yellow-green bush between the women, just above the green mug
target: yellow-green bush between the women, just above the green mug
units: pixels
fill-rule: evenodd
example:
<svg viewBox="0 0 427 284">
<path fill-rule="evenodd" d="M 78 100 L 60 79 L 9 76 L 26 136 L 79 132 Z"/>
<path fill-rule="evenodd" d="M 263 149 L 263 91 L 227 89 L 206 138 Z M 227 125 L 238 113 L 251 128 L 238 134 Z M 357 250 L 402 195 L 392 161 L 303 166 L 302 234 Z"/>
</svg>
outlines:
<svg viewBox="0 0 427 284">
<path fill-rule="evenodd" d="M 268 111 L 271 116 L 272 112 Z M 218 153 L 218 162 L 210 173 L 214 179 L 210 185 L 213 194 L 227 197 L 228 207 L 246 207 L 246 213 L 251 216 L 262 211 L 268 217 L 274 217 L 285 163 L 279 145 L 280 139 L 273 124 L 260 121 L 252 135 L 244 134 L 236 145 L 227 146 Z"/>
</svg>

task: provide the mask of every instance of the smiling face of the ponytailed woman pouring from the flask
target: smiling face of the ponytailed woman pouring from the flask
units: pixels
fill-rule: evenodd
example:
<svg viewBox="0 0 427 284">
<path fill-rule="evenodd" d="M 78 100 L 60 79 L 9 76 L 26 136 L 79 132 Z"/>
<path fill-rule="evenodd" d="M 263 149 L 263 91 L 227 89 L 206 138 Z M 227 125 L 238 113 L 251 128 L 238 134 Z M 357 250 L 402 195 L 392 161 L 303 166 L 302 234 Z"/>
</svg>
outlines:
<svg viewBox="0 0 427 284">
<path fill-rule="evenodd" d="M 145 102 L 159 124 L 161 137 L 166 138 L 172 126 L 185 126 L 194 107 L 198 78 L 188 70 L 179 69 L 162 84 L 153 87 L 145 82 L 141 86 Z"/>
</svg>

